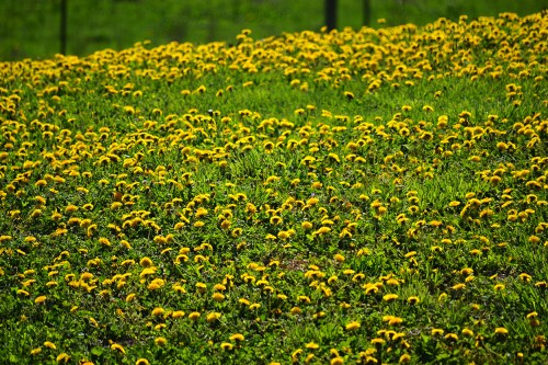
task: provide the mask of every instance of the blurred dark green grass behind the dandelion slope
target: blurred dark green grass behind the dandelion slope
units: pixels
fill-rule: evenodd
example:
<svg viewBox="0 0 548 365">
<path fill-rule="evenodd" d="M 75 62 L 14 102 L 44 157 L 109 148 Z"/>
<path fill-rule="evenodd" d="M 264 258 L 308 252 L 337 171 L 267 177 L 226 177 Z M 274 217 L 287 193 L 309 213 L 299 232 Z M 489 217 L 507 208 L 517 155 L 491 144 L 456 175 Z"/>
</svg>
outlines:
<svg viewBox="0 0 548 365">
<path fill-rule="evenodd" d="M 329 20 L 326 10 L 333 4 L 336 12 Z M 358 30 L 424 25 L 461 14 L 469 20 L 501 12 L 526 15 L 547 8 L 548 0 L 0 0 L 0 61 L 58 53 L 85 56 L 146 39 L 152 46 L 172 41 L 233 43 L 242 28 L 252 30 L 251 36 L 259 39 L 318 31 L 327 22 Z"/>
</svg>

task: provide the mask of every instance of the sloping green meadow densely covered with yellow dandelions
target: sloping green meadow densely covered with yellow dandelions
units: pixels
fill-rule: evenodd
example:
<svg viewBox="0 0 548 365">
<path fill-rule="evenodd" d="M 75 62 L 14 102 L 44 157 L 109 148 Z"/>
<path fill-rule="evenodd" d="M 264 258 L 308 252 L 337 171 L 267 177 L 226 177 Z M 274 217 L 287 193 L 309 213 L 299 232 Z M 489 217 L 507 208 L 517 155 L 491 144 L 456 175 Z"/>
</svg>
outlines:
<svg viewBox="0 0 548 365">
<path fill-rule="evenodd" d="M 0 358 L 546 364 L 547 30 L 0 62 Z"/>
</svg>

